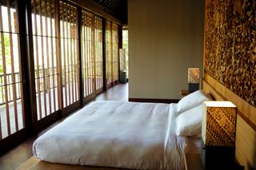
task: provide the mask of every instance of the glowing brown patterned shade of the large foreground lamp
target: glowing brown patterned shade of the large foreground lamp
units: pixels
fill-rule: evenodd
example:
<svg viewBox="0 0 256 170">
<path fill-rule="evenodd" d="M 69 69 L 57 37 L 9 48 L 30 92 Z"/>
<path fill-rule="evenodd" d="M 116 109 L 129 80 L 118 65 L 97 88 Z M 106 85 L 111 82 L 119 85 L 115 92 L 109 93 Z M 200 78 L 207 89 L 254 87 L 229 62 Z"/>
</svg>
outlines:
<svg viewBox="0 0 256 170">
<path fill-rule="evenodd" d="M 202 140 L 207 146 L 234 147 L 237 108 L 230 101 L 205 101 Z"/>
</svg>

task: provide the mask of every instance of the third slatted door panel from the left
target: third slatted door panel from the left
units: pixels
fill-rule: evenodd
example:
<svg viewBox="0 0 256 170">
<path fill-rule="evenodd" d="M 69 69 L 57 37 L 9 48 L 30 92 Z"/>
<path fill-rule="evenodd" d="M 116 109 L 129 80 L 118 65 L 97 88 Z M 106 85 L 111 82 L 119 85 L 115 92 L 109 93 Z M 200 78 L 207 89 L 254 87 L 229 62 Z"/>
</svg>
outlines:
<svg viewBox="0 0 256 170">
<path fill-rule="evenodd" d="M 78 62 L 78 33 L 77 8 L 65 2 L 59 3 L 61 57 L 62 57 L 62 86 L 63 106 L 79 100 L 79 62 Z"/>
</svg>

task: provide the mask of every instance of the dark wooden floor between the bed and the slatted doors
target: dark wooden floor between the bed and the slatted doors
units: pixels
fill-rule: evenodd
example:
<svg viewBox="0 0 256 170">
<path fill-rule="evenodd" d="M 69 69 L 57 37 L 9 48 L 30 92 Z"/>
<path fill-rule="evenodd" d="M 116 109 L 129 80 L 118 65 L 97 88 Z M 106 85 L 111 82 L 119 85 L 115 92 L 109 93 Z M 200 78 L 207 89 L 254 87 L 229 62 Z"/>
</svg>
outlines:
<svg viewBox="0 0 256 170">
<path fill-rule="evenodd" d="M 128 101 L 128 83 L 115 85 L 113 88 L 108 89 L 105 93 L 98 95 L 94 101 Z M 60 120 L 54 123 L 54 125 L 50 125 L 49 128 L 46 128 L 46 130 L 41 132 L 39 135 L 43 134 L 55 125 L 58 125 L 58 123 L 62 121 L 63 120 Z M 0 169 L 16 169 L 21 164 L 25 163 L 26 160 L 29 160 L 31 156 L 33 156 L 32 144 L 36 138 L 37 136 L 34 136 L 22 144 L 19 144 L 16 148 L 10 150 L 10 152 L 0 156 Z"/>
</svg>

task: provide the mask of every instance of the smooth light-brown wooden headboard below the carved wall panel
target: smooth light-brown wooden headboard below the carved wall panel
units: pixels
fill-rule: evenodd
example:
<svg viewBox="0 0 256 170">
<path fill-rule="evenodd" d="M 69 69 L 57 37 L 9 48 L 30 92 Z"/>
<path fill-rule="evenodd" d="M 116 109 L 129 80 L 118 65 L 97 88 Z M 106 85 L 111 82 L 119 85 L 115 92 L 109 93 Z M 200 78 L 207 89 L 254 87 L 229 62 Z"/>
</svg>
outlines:
<svg viewBox="0 0 256 170">
<path fill-rule="evenodd" d="M 213 77 L 204 73 L 202 89 L 217 101 L 231 101 L 238 107 L 236 159 L 246 169 L 256 169 L 256 109 Z"/>
</svg>

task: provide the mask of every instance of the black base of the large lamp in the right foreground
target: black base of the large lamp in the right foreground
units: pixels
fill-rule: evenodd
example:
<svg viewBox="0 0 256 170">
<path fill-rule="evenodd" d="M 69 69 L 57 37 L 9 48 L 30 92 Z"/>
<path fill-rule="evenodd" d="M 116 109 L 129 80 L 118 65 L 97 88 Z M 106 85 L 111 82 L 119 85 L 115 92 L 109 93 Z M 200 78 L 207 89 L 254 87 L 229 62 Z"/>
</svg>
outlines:
<svg viewBox="0 0 256 170">
<path fill-rule="evenodd" d="M 236 169 L 235 147 L 206 146 L 202 141 L 201 160 L 206 169 Z"/>
</svg>

